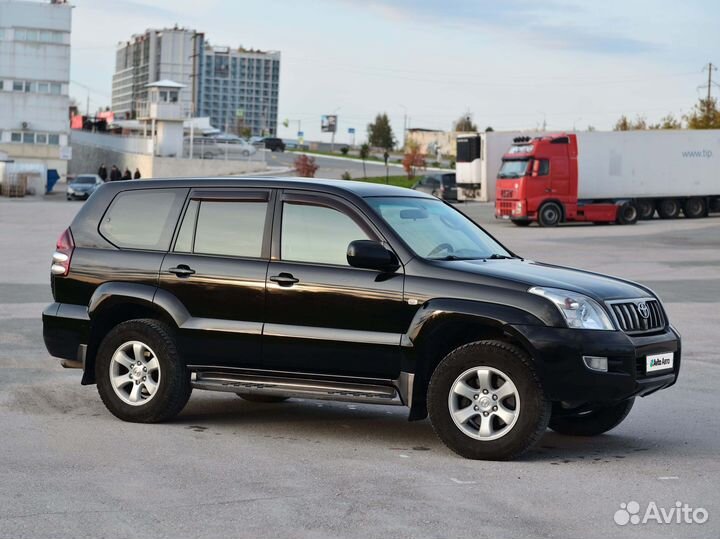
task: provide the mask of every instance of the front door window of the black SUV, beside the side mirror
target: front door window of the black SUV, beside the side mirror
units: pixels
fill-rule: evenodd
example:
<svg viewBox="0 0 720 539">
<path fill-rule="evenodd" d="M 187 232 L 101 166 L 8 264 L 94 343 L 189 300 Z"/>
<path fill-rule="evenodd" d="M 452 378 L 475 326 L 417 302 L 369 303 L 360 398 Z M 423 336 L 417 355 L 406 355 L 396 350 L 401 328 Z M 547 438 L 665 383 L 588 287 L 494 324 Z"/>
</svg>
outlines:
<svg viewBox="0 0 720 539">
<path fill-rule="evenodd" d="M 368 239 L 348 215 L 326 206 L 283 205 L 283 260 L 347 266 L 351 241 Z"/>
</svg>

